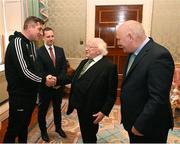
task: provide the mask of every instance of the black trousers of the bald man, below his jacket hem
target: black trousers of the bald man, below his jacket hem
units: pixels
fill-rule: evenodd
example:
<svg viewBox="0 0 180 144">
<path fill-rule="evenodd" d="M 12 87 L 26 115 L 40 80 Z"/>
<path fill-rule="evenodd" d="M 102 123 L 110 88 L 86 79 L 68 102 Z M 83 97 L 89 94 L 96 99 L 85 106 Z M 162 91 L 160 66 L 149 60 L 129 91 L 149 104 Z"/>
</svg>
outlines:
<svg viewBox="0 0 180 144">
<path fill-rule="evenodd" d="M 158 136 L 136 136 L 132 132 L 128 132 L 130 143 L 166 143 L 168 131 Z"/>
</svg>

